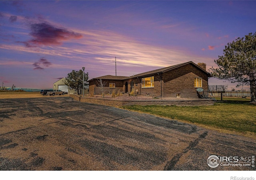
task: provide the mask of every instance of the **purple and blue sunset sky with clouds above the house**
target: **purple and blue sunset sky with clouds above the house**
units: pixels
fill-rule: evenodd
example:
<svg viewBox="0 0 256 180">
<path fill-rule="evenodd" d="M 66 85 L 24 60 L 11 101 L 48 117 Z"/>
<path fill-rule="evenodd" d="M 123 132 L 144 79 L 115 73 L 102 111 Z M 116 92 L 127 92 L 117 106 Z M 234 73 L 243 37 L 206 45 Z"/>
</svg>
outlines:
<svg viewBox="0 0 256 180">
<path fill-rule="evenodd" d="M 189 61 L 216 68 L 225 45 L 256 32 L 255 9 L 244 0 L 1 0 L 0 86 L 53 88 L 82 67 L 89 79 Z M 226 84 L 241 89 L 209 79 Z"/>
</svg>

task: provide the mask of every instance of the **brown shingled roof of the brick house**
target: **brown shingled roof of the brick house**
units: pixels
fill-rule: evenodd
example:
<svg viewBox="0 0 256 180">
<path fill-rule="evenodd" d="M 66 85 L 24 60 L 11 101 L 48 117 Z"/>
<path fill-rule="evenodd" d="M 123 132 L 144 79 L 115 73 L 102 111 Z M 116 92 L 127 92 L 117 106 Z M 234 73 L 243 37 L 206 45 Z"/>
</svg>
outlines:
<svg viewBox="0 0 256 180">
<path fill-rule="evenodd" d="M 177 64 L 177 65 L 174 65 L 174 66 L 169 66 L 169 67 L 166 67 L 166 68 L 160 68 L 160 69 L 156 69 L 156 70 L 152 70 L 152 71 L 136 74 L 136 75 L 133 75 L 133 76 L 112 76 L 112 75 L 106 75 L 106 76 L 101 76 L 101 77 L 93 78 L 93 79 L 126 80 L 126 79 L 136 78 L 136 77 L 146 77 L 146 76 L 154 75 L 154 74 L 157 74 L 157 73 L 160 73 L 160 72 L 164 73 L 164 72 L 173 70 L 175 68 L 179 68 L 181 66 L 185 66 L 187 64 L 191 64 L 192 66 L 198 68 L 199 70 L 201 70 L 204 73 L 206 73 L 209 77 L 211 77 L 209 72 L 207 72 L 206 70 L 204 70 L 203 68 L 201 68 L 200 66 L 195 64 L 194 62 L 190 61 L 190 62 L 184 62 L 184 63 L 181 63 L 181 64 Z M 91 79 L 91 80 L 93 80 L 93 79 Z M 91 81 L 91 80 L 89 80 L 89 81 Z"/>
</svg>

